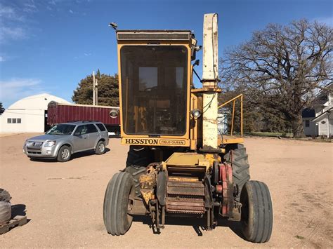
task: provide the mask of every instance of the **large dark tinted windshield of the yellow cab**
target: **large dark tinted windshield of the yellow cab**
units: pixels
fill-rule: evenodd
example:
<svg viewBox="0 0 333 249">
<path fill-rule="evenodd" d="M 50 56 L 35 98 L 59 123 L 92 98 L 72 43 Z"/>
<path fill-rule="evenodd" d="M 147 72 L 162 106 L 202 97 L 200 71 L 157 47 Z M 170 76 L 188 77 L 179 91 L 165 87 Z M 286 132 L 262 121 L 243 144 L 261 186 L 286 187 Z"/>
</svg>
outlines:
<svg viewBox="0 0 333 249">
<path fill-rule="evenodd" d="M 188 89 L 185 46 L 123 46 L 122 121 L 126 134 L 184 135 Z"/>
</svg>

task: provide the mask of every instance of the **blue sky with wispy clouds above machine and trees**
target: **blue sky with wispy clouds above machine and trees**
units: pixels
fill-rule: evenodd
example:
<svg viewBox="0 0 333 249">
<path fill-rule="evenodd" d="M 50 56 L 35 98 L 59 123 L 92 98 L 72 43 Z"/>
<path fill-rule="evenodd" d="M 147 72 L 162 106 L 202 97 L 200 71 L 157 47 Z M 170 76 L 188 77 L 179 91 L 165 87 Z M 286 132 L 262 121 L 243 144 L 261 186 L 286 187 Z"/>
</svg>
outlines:
<svg viewBox="0 0 333 249">
<path fill-rule="evenodd" d="M 219 15 L 220 56 L 270 22 L 333 20 L 332 1 L 325 0 L 0 0 L 0 102 L 8 107 L 38 93 L 71 101 L 93 70 L 117 73 L 110 22 L 119 29 L 192 29 L 202 44 L 204 13 Z"/>
</svg>

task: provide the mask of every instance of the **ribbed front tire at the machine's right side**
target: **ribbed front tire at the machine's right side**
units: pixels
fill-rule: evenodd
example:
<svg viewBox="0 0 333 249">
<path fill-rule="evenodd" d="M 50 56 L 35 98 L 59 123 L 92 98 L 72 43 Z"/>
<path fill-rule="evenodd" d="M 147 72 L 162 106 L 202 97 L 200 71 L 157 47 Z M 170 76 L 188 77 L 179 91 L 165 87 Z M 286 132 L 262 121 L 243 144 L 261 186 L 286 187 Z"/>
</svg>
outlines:
<svg viewBox="0 0 333 249">
<path fill-rule="evenodd" d="M 273 205 L 267 185 L 258 181 L 247 182 L 242 189 L 240 202 L 244 237 L 254 243 L 269 241 L 273 230 Z"/>
</svg>

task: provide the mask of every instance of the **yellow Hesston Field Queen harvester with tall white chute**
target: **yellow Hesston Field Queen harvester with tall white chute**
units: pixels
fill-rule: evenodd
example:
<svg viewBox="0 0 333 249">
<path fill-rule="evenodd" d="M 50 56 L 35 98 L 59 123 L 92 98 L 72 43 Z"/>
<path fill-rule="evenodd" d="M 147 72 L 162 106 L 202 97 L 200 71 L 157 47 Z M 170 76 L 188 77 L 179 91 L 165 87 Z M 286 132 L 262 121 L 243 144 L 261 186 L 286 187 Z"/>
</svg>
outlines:
<svg viewBox="0 0 333 249">
<path fill-rule="evenodd" d="M 191 62 L 201 46 L 191 31 L 116 32 L 121 142 L 129 152 L 105 192 L 109 234 L 125 234 L 133 215 L 149 215 L 158 233 L 170 216 L 204 219 L 207 230 L 224 217 L 241 222 L 248 241 L 270 239 L 270 192 L 249 180 L 242 136 L 218 139 L 216 13 L 204 15 L 203 33 L 202 88 L 195 88 L 199 63 Z"/>
</svg>

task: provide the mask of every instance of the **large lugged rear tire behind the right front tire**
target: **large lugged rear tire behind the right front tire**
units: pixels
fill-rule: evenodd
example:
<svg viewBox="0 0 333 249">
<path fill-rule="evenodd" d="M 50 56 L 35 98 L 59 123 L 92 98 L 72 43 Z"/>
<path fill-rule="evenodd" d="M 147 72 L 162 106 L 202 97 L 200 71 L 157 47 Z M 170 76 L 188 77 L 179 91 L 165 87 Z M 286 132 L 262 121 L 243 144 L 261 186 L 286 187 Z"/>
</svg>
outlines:
<svg viewBox="0 0 333 249">
<path fill-rule="evenodd" d="M 230 144 L 226 152 L 224 160 L 233 166 L 233 183 L 237 186 L 235 200 L 240 201 L 242 187 L 250 179 L 247 149 L 243 144 Z"/>
</svg>

